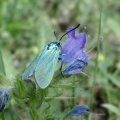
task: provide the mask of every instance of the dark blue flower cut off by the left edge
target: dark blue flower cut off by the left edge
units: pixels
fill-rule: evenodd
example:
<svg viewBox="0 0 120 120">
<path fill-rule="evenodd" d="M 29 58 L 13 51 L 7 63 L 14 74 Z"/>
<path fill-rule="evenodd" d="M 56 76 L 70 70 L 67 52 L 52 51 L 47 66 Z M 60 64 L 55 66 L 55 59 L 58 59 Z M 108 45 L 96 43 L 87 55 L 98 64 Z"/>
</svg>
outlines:
<svg viewBox="0 0 120 120">
<path fill-rule="evenodd" d="M 0 90 L 0 112 L 3 111 L 7 101 L 8 101 L 9 89 Z"/>
</svg>

